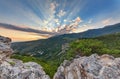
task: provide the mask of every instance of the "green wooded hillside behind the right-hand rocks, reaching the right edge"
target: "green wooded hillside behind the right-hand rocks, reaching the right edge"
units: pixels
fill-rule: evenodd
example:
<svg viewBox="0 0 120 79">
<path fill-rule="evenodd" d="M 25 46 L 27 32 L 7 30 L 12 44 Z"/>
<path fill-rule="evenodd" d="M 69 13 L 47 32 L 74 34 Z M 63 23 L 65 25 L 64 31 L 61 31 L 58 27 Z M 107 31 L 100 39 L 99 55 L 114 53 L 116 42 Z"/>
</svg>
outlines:
<svg viewBox="0 0 120 79">
<path fill-rule="evenodd" d="M 68 59 L 80 56 L 89 56 L 97 53 L 110 54 L 120 57 L 120 33 L 104 35 L 95 38 L 78 39 L 69 44 L 69 49 L 64 56 Z"/>
</svg>

